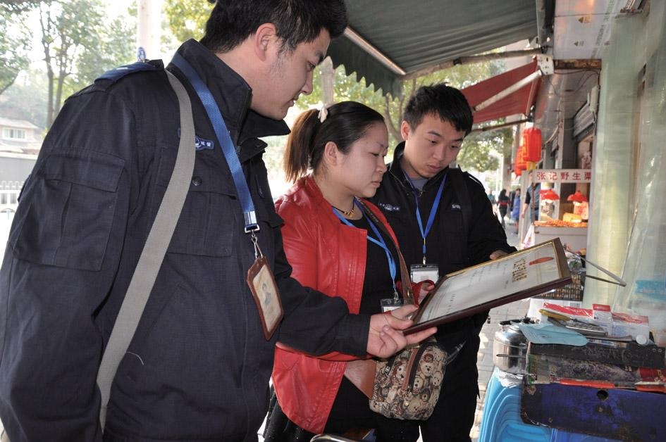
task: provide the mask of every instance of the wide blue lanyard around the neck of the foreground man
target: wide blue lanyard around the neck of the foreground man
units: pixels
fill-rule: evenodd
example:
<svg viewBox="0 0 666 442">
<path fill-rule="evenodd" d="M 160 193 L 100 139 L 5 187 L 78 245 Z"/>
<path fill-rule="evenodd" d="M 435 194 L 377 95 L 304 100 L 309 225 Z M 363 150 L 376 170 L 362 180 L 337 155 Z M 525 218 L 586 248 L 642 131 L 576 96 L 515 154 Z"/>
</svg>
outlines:
<svg viewBox="0 0 666 442">
<path fill-rule="evenodd" d="M 187 80 L 197 92 L 204 108 L 206 108 L 206 113 L 215 130 L 217 141 L 222 146 L 222 153 L 229 165 L 236 191 L 238 191 L 238 198 L 245 219 L 245 233 L 258 232 L 259 225 L 257 224 L 257 215 L 254 213 L 254 202 L 252 201 L 252 196 L 249 194 L 249 188 L 247 187 L 247 181 L 245 181 L 245 175 L 243 175 L 238 154 L 233 147 L 233 141 L 231 141 L 229 131 L 220 113 L 220 108 L 218 108 L 213 98 L 213 94 L 211 94 L 211 91 L 206 87 L 201 77 L 199 77 L 197 71 L 180 54 L 176 53 L 171 62 L 187 77 Z"/>
</svg>

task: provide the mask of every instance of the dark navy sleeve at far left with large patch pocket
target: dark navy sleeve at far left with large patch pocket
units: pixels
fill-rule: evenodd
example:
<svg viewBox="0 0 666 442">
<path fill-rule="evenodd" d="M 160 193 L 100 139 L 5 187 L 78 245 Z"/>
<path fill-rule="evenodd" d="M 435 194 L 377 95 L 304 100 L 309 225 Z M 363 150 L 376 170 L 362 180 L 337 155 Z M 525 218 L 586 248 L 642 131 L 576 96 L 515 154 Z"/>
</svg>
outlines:
<svg viewBox="0 0 666 442">
<path fill-rule="evenodd" d="M 95 317 L 121 255 L 134 134 L 123 103 L 88 89 L 63 106 L 25 184 L 0 271 L 0 417 L 12 442 L 101 441 Z"/>
</svg>

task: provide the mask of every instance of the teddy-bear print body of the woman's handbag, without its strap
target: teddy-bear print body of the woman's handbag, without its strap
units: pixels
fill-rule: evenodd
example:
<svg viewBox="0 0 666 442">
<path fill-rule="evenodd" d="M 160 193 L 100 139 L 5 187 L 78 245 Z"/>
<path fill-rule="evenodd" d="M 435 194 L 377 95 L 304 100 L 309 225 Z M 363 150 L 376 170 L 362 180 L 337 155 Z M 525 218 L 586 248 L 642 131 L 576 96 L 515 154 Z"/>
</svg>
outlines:
<svg viewBox="0 0 666 442">
<path fill-rule="evenodd" d="M 395 419 L 428 419 L 444 377 L 446 352 L 431 339 L 377 362 L 370 409 Z"/>
</svg>

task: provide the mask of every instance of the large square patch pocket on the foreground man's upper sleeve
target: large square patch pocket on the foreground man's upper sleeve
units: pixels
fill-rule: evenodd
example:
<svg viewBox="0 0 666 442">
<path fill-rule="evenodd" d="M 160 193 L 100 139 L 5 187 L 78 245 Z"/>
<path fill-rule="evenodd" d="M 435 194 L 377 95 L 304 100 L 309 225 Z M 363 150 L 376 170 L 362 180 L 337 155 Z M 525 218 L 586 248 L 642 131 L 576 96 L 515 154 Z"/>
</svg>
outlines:
<svg viewBox="0 0 666 442">
<path fill-rule="evenodd" d="M 10 244 L 17 258 L 100 270 L 125 161 L 92 151 L 54 153 L 30 179 Z M 20 213 L 23 212 L 23 213 Z"/>
</svg>

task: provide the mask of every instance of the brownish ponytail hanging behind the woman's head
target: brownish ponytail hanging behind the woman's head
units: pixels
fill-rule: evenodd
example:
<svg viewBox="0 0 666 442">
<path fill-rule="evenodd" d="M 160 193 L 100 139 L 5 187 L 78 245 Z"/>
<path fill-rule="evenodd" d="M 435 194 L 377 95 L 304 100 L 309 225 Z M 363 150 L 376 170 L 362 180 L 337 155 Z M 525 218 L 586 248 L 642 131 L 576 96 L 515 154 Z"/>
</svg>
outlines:
<svg viewBox="0 0 666 442">
<path fill-rule="evenodd" d="M 287 181 L 295 182 L 307 174 L 314 136 L 321 123 L 317 110 L 306 110 L 296 118 L 285 148 L 284 169 Z"/>
</svg>

